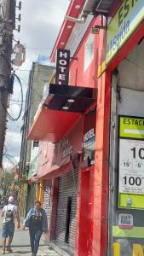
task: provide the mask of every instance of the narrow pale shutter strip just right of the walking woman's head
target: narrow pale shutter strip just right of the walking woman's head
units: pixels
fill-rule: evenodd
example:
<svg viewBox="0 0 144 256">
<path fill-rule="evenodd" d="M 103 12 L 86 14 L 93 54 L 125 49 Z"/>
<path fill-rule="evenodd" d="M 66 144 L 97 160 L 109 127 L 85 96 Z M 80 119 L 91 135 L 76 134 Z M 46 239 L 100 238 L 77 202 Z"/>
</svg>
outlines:
<svg viewBox="0 0 144 256">
<path fill-rule="evenodd" d="M 49 229 L 49 220 L 51 212 L 51 184 L 44 184 L 44 195 L 43 195 L 43 209 L 45 210 L 48 218 L 48 229 Z"/>
</svg>

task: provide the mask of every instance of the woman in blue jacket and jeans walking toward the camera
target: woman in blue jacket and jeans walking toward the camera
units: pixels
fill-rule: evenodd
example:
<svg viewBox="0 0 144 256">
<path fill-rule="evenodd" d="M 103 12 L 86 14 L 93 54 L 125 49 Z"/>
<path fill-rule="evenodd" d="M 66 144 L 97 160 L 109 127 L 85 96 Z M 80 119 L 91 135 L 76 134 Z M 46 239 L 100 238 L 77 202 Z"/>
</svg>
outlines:
<svg viewBox="0 0 144 256">
<path fill-rule="evenodd" d="M 48 230 L 47 215 L 41 207 L 40 201 L 36 201 L 35 207 L 27 213 L 23 223 L 23 230 L 25 230 L 25 227 L 29 228 L 32 256 L 36 256 L 42 233 L 46 233 Z"/>
</svg>

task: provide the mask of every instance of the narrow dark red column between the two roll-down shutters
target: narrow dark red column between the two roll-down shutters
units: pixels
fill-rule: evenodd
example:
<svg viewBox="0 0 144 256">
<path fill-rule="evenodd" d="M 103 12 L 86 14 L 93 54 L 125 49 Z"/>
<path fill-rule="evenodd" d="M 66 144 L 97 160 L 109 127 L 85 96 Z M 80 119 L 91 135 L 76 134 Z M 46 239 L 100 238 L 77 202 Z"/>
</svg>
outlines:
<svg viewBox="0 0 144 256">
<path fill-rule="evenodd" d="M 52 207 L 50 215 L 50 227 L 49 227 L 49 237 L 50 240 L 55 239 L 55 224 L 56 224 L 56 214 L 57 214 L 57 201 L 58 201 L 58 177 L 53 178 L 52 181 Z"/>
</svg>

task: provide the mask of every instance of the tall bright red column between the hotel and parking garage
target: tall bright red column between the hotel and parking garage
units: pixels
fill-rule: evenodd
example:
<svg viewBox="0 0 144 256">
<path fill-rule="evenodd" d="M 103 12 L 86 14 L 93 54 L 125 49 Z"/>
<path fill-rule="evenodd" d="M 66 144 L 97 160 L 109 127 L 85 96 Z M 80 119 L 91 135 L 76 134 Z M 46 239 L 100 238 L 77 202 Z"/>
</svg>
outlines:
<svg viewBox="0 0 144 256">
<path fill-rule="evenodd" d="M 111 73 L 98 80 L 94 174 L 94 256 L 107 255 L 107 206 L 109 168 Z"/>
</svg>

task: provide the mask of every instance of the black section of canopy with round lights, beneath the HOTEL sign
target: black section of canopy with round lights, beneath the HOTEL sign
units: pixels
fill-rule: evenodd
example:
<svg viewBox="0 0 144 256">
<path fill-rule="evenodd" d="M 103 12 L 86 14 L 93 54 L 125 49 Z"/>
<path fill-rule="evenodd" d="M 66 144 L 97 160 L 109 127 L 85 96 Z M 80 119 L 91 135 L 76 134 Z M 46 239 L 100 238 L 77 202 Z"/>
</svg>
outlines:
<svg viewBox="0 0 144 256">
<path fill-rule="evenodd" d="M 44 105 L 49 109 L 84 113 L 96 102 L 97 89 L 81 86 L 49 84 Z"/>
</svg>

